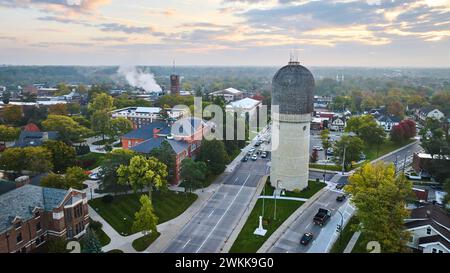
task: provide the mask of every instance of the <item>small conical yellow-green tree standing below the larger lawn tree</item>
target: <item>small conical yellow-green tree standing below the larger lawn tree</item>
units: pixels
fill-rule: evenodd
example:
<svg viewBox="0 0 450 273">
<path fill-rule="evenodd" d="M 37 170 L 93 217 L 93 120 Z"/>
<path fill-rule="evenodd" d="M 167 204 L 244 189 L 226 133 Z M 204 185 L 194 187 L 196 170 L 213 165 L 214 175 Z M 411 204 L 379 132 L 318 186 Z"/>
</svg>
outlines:
<svg viewBox="0 0 450 273">
<path fill-rule="evenodd" d="M 134 214 L 133 232 L 143 231 L 146 234 L 157 232 L 158 217 L 153 210 L 150 197 L 143 194 L 139 202 L 141 203 L 141 208 Z"/>
</svg>

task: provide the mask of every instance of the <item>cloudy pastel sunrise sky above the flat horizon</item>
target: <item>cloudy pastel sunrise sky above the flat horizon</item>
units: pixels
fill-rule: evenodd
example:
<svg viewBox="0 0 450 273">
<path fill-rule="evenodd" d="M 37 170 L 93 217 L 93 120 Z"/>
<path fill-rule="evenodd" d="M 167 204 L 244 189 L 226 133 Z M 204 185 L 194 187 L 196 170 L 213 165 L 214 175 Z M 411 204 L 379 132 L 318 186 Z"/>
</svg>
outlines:
<svg viewBox="0 0 450 273">
<path fill-rule="evenodd" d="M 0 64 L 450 67 L 450 0 L 0 0 Z"/>
</svg>

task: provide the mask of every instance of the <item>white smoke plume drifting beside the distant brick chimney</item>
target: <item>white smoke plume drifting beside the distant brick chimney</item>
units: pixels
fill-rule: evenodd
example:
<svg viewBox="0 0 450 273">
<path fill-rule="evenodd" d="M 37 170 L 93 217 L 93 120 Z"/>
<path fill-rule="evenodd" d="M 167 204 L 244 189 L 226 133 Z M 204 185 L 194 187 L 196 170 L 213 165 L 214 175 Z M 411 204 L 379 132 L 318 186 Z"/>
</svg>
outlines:
<svg viewBox="0 0 450 273">
<path fill-rule="evenodd" d="M 162 91 L 152 73 L 146 73 L 134 66 L 121 66 L 117 73 L 124 76 L 128 84 L 133 87 L 142 88 L 147 92 Z"/>
</svg>

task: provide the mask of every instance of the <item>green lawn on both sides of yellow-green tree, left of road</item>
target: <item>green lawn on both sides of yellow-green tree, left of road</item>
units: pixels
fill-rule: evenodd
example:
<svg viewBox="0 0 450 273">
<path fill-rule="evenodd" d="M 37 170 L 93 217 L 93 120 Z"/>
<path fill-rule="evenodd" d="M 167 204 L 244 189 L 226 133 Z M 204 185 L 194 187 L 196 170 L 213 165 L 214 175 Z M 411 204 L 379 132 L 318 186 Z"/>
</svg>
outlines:
<svg viewBox="0 0 450 273">
<path fill-rule="evenodd" d="M 114 196 L 112 203 L 107 204 L 101 198 L 89 201 L 91 205 L 117 232 L 123 235 L 132 234 L 131 227 L 134 214 L 140 208 L 138 194 Z M 169 221 L 183 213 L 195 200 L 197 195 L 192 193 L 166 193 L 153 192 L 152 202 L 155 213 L 159 218 L 158 223 Z"/>
</svg>

